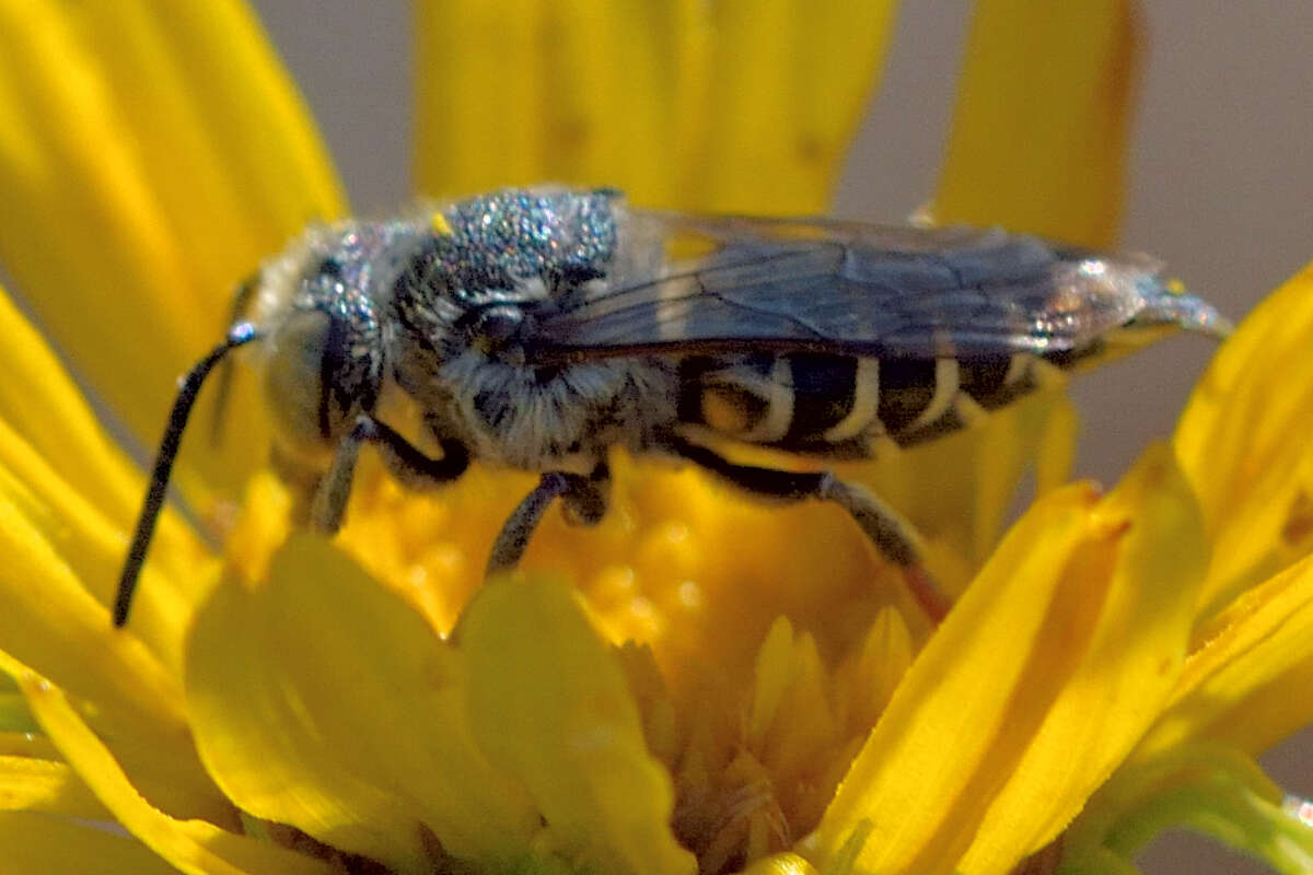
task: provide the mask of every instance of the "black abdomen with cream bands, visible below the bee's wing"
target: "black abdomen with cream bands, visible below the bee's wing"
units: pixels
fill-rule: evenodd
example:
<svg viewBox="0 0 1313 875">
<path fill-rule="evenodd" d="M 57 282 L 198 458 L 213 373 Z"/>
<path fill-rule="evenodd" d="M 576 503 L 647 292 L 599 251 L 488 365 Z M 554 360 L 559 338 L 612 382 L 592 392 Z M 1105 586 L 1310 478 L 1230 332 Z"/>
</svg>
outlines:
<svg viewBox="0 0 1313 875">
<path fill-rule="evenodd" d="M 1070 354 L 695 357 L 680 365 L 679 417 L 789 453 L 864 458 L 882 439 L 909 446 L 965 428 L 1071 363 Z"/>
</svg>

